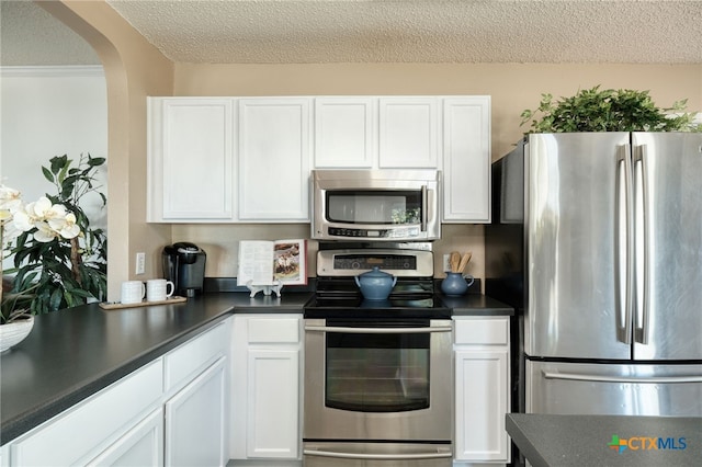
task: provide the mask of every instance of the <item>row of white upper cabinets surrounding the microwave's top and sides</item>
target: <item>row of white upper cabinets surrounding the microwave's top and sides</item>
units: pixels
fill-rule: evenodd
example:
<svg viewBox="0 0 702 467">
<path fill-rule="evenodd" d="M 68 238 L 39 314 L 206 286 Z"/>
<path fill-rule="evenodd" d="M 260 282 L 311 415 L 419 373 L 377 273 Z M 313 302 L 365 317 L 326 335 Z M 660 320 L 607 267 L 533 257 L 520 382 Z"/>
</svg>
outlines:
<svg viewBox="0 0 702 467">
<path fill-rule="evenodd" d="M 490 98 L 149 98 L 148 221 L 307 223 L 310 169 L 442 171 L 442 223 L 490 220 Z"/>
</svg>

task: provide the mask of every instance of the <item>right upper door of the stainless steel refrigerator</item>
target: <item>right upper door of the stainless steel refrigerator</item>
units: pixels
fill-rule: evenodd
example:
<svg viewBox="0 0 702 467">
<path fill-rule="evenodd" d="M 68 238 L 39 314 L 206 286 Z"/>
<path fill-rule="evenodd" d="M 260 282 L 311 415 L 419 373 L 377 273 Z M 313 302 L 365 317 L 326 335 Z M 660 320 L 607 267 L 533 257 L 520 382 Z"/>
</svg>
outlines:
<svg viewBox="0 0 702 467">
<path fill-rule="evenodd" d="M 702 134 L 632 139 L 634 358 L 702 360 Z"/>
</svg>

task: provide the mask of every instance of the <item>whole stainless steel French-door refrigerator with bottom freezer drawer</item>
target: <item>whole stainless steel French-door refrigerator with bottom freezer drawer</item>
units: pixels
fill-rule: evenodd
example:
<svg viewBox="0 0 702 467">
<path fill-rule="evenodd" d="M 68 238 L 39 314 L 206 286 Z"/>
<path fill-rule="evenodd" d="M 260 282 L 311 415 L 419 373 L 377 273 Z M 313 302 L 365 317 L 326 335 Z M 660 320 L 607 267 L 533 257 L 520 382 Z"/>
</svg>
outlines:
<svg viewBox="0 0 702 467">
<path fill-rule="evenodd" d="M 534 134 L 492 173 L 513 410 L 702 415 L 702 134 Z"/>
</svg>

